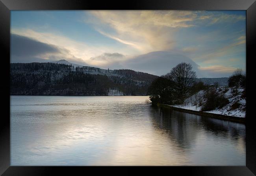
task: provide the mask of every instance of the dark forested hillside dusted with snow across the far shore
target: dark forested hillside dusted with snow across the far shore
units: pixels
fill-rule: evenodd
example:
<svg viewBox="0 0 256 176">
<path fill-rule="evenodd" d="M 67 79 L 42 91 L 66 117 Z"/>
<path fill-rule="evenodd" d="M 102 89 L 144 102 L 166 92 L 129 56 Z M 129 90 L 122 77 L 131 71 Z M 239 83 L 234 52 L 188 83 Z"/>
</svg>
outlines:
<svg viewBox="0 0 256 176">
<path fill-rule="evenodd" d="M 134 70 L 103 70 L 58 63 L 11 63 L 11 95 L 146 95 L 158 78 Z"/>
</svg>

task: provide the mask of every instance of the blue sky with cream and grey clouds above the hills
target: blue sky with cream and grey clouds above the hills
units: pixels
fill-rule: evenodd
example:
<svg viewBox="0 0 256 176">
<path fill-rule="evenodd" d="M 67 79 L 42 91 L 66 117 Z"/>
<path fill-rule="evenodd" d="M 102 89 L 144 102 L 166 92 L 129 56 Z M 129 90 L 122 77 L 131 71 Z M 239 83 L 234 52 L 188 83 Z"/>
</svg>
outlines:
<svg viewBox="0 0 256 176">
<path fill-rule="evenodd" d="M 191 63 L 198 77 L 245 70 L 246 11 L 11 11 L 11 63 L 71 63 L 158 76 Z"/>
</svg>

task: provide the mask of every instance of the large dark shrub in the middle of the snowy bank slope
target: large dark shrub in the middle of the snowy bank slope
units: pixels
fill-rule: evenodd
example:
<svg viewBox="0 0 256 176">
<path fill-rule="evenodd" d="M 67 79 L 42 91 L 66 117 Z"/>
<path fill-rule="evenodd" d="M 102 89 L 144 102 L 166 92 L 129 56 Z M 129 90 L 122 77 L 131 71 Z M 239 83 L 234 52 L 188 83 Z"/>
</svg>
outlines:
<svg viewBox="0 0 256 176">
<path fill-rule="evenodd" d="M 211 111 L 217 107 L 224 107 L 229 103 L 228 99 L 224 97 L 224 94 L 218 93 L 213 88 L 205 91 L 204 98 L 206 98 L 206 102 L 202 106 L 201 111 Z"/>
</svg>

